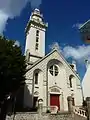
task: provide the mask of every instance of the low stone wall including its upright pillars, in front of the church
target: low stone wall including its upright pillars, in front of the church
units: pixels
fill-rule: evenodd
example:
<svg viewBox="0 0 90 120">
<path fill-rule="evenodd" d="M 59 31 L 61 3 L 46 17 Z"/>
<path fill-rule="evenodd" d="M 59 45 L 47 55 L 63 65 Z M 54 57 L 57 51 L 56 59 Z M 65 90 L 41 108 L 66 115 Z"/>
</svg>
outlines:
<svg viewBox="0 0 90 120">
<path fill-rule="evenodd" d="M 60 113 L 43 113 L 42 101 L 39 101 L 37 112 L 19 112 L 12 116 L 7 116 L 6 120 L 87 120 L 86 117 L 81 117 L 73 112 L 72 97 L 68 96 L 68 111 Z M 88 103 L 89 104 L 89 103 Z"/>
</svg>

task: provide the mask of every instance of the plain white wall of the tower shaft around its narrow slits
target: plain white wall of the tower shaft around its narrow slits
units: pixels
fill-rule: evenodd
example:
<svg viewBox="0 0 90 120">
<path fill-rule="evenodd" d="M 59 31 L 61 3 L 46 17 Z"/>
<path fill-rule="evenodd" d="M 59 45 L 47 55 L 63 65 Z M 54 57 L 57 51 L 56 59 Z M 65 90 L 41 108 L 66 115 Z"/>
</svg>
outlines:
<svg viewBox="0 0 90 120">
<path fill-rule="evenodd" d="M 32 55 L 44 56 L 45 55 L 45 30 L 40 29 L 39 36 L 39 49 L 35 50 L 36 44 L 36 30 L 39 28 L 31 27 L 29 33 L 26 36 L 26 47 L 25 52 L 29 49 Z"/>
</svg>

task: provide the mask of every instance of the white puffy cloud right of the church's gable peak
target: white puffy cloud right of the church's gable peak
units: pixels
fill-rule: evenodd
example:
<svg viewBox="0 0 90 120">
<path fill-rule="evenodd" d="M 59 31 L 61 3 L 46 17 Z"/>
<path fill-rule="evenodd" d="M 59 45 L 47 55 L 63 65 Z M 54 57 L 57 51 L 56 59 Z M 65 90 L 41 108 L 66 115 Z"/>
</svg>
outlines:
<svg viewBox="0 0 90 120">
<path fill-rule="evenodd" d="M 59 44 L 53 43 L 51 45 L 51 48 L 53 48 L 54 45 L 57 45 L 59 50 L 62 52 L 65 58 L 72 57 L 76 61 L 84 61 L 85 59 L 90 59 L 90 45 L 85 46 L 64 46 L 63 48 L 59 46 Z"/>
</svg>

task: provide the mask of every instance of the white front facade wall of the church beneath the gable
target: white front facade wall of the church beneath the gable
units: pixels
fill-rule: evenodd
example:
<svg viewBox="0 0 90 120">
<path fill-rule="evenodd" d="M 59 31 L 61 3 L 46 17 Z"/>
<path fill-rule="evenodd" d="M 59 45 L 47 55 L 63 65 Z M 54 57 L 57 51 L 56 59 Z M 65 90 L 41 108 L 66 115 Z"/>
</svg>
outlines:
<svg viewBox="0 0 90 120">
<path fill-rule="evenodd" d="M 53 77 L 49 71 L 47 71 L 47 67 L 50 66 L 50 61 L 53 59 L 56 59 L 53 61 L 53 63 L 57 64 L 59 66 L 59 74 L 56 77 Z M 60 61 L 60 62 L 56 62 Z M 48 64 L 50 63 L 50 64 Z M 27 77 L 30 79 L 32 78 L 32 74 L 35 70 L 40 69 L 43 73 L 41 74 L 39 87 L 37 88 L 37 91 L 40 93 L 40 98 L 43 98 L 43 104 L 44 106 L 47 106 L 47 98 L 49 96 L 50 87 L 53 87 L 56 85 L 60 89 L 60 99 L 63 99 L 62 106 L 60 107 L 62 110 L 68 110 L 68 104 L 67 104 L 67 97 L 71 96 L 71 94 L 74 94 L 75 97 L 75 104 L 76 105 L 82 105 L 82 91 L 80 86 L 80 79 L 79 77 L 74 73 L 73 70 L 71 70 L 70 66 L 67 65 L 67 63 L 63 60 L 62 56 L 58 54 L 56 51 L 53 52 L 51 55 L 49 55 L 47 58 L 43 59 L 40 63 L 38 63 L 36 66 L 32 67 L 27 72 Z M 69 86 L 69 76 L 73 75 L 73 89 L 74 91 L 71 91 L 71 88 Z M 42 77 L 43 76 L 43 77 Z M 32 80 L 33 81 L 33 80 Z M 47 91 L 47 81 L 48 81 L 48 91 Z M 55 84 L 56 82 L 56 84 Z M 31 88 L 31 91 L 36 91 L 36 88 Z M 33 93 L 32 93 L 33 94 Z M 63 97 L 61 96 L 63 94 Z M 28 97 L 27 97 L 28 98 Z M 27 99 L 26 98 L 26 99 Z"/>
</svg>

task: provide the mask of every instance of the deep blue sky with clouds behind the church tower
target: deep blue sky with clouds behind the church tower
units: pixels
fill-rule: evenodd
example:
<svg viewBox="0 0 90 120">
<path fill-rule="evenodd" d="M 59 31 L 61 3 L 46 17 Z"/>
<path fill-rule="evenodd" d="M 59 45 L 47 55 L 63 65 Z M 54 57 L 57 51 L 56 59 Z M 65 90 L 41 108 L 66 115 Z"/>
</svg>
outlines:
<svg viewBox="0 0 90 120">
<path fill-rule="evenodd" d="M 81 40 L 78 28 L 90 19 L 90 0 L 0 0 L 0 33 L 17 40 L 23 52 L 25 27 L 34 8 L 39 8 L 48 22 L 46 53 L 57 46 L 67 61 L 76 61 L 82 79 L 90 45 Z"/>
</svg>

